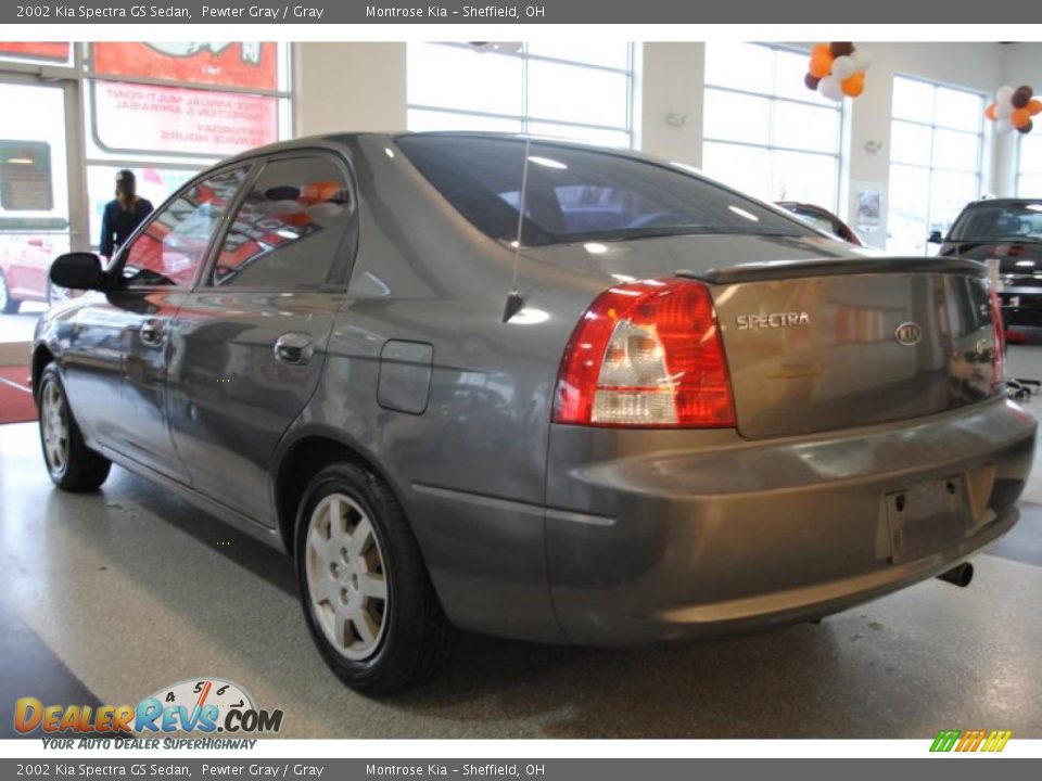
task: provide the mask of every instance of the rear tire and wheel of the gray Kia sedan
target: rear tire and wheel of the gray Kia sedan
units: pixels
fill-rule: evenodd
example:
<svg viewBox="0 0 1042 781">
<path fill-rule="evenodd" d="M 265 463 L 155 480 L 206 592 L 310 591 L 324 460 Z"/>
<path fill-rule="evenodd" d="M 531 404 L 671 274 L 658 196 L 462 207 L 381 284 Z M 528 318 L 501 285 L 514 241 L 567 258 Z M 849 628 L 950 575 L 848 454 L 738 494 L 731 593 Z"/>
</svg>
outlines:
<svg viewBox="0 0 1042 781">
<path fill-rule="evenodd" d="M 453 628 L 405 511 L 379 476 L 353 463 L 315 475 L 295 550 L 308 629 L 346 686 L 391 694 L 434 676 Z"/>
</svg>

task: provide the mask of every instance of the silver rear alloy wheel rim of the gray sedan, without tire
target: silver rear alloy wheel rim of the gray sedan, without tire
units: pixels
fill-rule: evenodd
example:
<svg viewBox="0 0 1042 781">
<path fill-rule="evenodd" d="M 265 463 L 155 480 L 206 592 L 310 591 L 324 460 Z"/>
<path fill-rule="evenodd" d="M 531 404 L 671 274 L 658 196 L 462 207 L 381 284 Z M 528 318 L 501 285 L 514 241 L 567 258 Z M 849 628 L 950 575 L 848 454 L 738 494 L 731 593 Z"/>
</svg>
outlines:
<svg viewBox="0 0 1042 781">
<path fill-rule="evenodd" d="M 305 566 L 312 613 L 326 639 L 353 661 L 372 656 L 389 620 L 383 549 L 366 511 L 330 494 L 308 522 Z"/>
</svg>

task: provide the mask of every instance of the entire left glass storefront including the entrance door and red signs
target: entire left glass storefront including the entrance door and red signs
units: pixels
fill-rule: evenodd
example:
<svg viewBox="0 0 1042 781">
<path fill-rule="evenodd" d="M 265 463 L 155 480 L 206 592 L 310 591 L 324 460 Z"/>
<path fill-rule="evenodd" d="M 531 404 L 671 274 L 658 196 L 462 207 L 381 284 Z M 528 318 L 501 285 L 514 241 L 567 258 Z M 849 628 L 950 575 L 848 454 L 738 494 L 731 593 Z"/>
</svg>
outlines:
<svg viewBox="0 0 1042 781">
<path fill-rule="evenodd" d="M 158 207 L 218 159 L 291 136 L 289 43 L 3 42 L 0 343 L 27 342 L 60 253 L 97 249 L 116 172 Z M 47 77 L 40 68 L 47 66 Z M 61 291 L 58 291 L 61 295 Z"/>
</svg>

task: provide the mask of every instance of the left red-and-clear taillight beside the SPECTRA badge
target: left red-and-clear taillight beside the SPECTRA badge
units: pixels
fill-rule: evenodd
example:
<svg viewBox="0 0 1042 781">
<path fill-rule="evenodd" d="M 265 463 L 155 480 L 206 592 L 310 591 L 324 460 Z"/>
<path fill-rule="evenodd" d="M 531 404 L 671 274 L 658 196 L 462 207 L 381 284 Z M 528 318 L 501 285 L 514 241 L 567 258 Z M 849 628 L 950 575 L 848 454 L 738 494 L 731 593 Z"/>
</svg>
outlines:
<svg viewBox="0 0 1042 781">
<path fill-rule="evenodd" d="M 730 380 L 709 290 L 670 279 L 601 293 L 564 350 L 554 420 L 733 427 Z"/>
</svg>

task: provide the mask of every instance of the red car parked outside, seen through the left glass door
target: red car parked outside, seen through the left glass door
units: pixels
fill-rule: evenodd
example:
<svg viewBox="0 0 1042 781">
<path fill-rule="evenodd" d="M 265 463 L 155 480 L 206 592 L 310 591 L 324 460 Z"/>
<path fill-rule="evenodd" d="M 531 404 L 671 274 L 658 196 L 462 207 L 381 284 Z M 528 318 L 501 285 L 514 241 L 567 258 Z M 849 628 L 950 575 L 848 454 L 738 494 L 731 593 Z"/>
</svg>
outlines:
<svg viewBox="0 0 1042 781">
<path fill-rule="evenodd" d="M 64 235 L 0 234 L 0 312 L 16 312 L 24 300 L 54 304 L 67 298 L 68 291 L 48 279 L 51 261 L 64 252 Z"/>
</svg>

